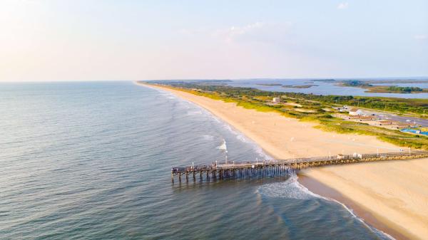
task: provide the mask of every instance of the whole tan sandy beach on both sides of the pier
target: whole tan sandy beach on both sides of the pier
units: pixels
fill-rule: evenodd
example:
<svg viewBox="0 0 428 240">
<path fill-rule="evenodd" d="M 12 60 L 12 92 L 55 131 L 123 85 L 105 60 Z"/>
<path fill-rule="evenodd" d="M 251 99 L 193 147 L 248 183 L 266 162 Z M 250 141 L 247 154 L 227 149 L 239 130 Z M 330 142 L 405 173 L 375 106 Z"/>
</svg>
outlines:
<svg viewBox="0 0 428 240">
<path fill-rule="evenodd" d="M 149 87 L 154 88 L 152 85 Z M 323 132 L 313 128 L 315 123 L 312 122 L 300 122 L 277 113 L 248 110 L 235 103 L 224 103 L 161 86 L 156 88 L 167 90 L 209 110 L 275 158 L 399 150 L 399 147 L 381 142 L 375 137 Z M 428 159 L 369 162 L 305 169 L 300 174 L 316 179 L 342 197 L 350 199 L 358 207 L 359 211 L 355 212 L 359 216 L 365 218 L 363 212 L 370 213 L 366 221 L 396 239 L 428 239 L 427 163 Z M 302 182 L 305 184 L 305 181 Z M 308 188 L 311 189 L 311 186 Z M 311 190 L 316 190 L 313 188 L 312 184 Z M 325 195 L 340 198 L 337 194 Z M 393 231 L 389 231 L 391 229 Z"/>
</svg>

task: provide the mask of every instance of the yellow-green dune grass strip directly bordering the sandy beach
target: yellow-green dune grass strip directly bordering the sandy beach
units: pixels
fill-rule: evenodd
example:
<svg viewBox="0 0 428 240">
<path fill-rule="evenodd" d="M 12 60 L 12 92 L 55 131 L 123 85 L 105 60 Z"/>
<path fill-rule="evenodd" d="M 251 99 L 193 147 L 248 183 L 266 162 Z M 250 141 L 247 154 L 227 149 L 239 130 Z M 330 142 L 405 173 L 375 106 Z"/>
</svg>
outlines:
<svg viewBox="0 0 428 240">
<path fill-rule="evenodd" d="M 411 147 L 414 149 L 428 150 L 428 137 L 422 135 L 412 135 L 399 130 L 389 130 L 384 127 L 376 127 L 361 122 L 352 122 L 335 118 L 325 112 L 323 108 L 330 108 L 331 105 L 314 102 L 312 100 L 293 99 L 285 97 L 287 102 L 297 103 L 301 107 L 292 105 L 269 105 L 267 101 L 272 99 L 272 95 L 245 95 L 239 90 L 235 92 L 217 92 L 207 90 L 195 90 L 189 88 L 179 88 L 177 86 L 168 86 L 174 90 L 181 90 L 187 93 L 200 95 L 214 100 L 222 100 L 226 103 L 236 103 L 236 105 L 245 109 L 253 109 L 260 112 L 280 113 L 287 118 L 296 118 L 305 122 L 316 122 L 315 128 L 327 132 L 337 132 L 340 134 L 360 134 L 372 135 L 384 142 L 392 143 L 399 147 Z M 245 93 L 245 92 L 244 92 Z M 314 110 L 314 113 L 302 112 L 297 109 Z"/>
</svg>

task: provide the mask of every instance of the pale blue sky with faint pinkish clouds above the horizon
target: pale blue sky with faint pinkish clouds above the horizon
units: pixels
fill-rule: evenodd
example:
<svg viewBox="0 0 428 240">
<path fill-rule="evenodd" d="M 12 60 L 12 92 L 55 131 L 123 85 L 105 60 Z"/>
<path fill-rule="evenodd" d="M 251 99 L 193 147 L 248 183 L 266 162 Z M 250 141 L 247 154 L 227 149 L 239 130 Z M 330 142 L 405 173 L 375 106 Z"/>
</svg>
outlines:
<svg viewBox="0 0 428 240">
<path fill-rule="evenodd" d="M 0 81 L 409 76 L 427 0 L 0 0 Z"/>
</svg>

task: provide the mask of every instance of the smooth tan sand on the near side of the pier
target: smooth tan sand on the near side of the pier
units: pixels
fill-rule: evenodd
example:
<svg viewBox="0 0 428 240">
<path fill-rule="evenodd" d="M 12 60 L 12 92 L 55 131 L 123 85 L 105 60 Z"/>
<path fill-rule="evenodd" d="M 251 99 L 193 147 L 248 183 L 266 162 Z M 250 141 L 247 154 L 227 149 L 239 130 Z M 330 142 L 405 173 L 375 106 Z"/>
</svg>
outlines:
<svg viewBox="0 0 428 240">
<path fill-rule="evenodd" d="M 428 239 L 428 159 L 321 167 L 303 174 L 336 189 L 409 239 Z"/>
</svg>

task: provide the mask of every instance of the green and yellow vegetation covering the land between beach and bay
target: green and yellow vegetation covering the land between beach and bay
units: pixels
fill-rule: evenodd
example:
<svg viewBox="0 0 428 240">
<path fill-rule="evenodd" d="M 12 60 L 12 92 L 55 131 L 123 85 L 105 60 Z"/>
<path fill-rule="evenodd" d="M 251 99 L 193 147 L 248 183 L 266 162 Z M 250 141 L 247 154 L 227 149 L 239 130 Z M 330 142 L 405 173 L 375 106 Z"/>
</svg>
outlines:
<svg viewBox="0 0 428 240">
<path fill-rule="evenodd" d="M 153 82 L 151 82 L 153 83 Z M 426 99 L 372 98 L 339 95 L 312 95 L 305 93 L 282 93 L 255 88 L 231 87 L 228 85 L 204 85 L 195 83 L 169 83 L 169 88 L 182 90 L 195 95 L 236 103 L 247 109 L 262 112 L 276 112 L 288 118 L 317 122 L 317 128 L 339 133 L 373 135 L 379 140 L 401 147 L 428 150 L 428 137 L 411 135 L 399 130 L 367 125 L 335 118 L 325 109 L 337 105 L 359 105 L 377 110 L 394 110 L 400 113 L 422 114 L 428 108 Z M 272 103 L 272 98 L 280 97 L 281 103 Z"/>
</svg>

